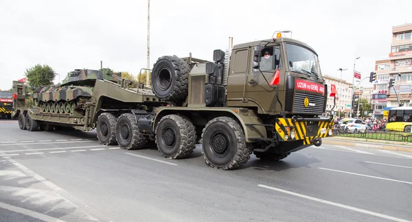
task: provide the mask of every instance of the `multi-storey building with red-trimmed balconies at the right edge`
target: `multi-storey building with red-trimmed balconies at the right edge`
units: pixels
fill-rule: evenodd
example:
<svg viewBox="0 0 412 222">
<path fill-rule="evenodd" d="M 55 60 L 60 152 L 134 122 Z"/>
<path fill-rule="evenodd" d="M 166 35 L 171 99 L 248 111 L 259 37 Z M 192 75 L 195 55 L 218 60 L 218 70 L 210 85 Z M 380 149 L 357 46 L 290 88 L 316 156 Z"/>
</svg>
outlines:
<svg viewBox="0 0 412 222">
<path fill-rule="evenodd" d="M 377 60 L 375 72 L 373 117 L 383 118 L 385 108 L 412 106 L 412 23 L 392 27 L 389 58 Z M 389 88 L 391 78 L 395 79 L 393 88 Z"/>
</svg>

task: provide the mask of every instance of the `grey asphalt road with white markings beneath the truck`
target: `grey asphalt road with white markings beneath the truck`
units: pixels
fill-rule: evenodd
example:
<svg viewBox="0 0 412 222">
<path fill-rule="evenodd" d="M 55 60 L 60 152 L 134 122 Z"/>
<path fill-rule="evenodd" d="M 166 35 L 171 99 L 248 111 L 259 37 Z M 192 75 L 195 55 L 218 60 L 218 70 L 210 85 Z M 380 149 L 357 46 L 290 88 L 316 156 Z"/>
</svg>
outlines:
<svg viewBox="0 0 412 222">
<path fill-rule="evenodd" d="M 412 153 L 322 145 L 233 171 L 0 120 L 0 221 L 412 221 Z"/>
</svg>

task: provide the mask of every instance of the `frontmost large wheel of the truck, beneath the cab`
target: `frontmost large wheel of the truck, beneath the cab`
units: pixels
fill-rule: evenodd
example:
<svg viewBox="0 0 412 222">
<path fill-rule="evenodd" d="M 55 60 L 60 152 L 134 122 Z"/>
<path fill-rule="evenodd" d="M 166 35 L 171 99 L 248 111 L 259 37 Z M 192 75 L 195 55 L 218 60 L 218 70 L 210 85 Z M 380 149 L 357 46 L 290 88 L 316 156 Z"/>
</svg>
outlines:
<svg viewBox="0 0 412 222">
<path fill-rule="evenodd" d="M 236 169 L 250 158 L 242 127 L 227 116 L 207 123 L 202 134 L 202 153 L 206 164 L 216 169 Z"/>
</svg>

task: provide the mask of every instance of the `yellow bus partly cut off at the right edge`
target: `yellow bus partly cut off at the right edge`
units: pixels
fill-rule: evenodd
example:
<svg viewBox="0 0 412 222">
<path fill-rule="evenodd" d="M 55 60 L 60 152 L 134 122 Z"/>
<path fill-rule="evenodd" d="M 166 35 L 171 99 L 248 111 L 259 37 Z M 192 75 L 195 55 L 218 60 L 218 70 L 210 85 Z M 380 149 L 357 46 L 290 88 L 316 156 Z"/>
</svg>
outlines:
<svg viewBox="0 0 412 222">
<path fill-rule="evenodd" d="M 412 107 L 391 108 L 388 114 L 387 130 L 411 132 Z"/>
</svg>

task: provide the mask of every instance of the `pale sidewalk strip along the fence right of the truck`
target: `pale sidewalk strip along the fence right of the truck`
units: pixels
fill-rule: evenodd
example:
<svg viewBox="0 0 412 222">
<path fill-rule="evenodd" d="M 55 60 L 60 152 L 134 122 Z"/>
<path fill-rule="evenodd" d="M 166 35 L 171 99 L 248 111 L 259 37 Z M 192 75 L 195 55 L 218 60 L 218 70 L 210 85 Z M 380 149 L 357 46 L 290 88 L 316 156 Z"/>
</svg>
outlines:
<svg viewBox="0 0 412 222">
<path fill-rule="evenodd" d="M 365 138 L 334 136 L 332 138 L 322 138 L 322 143 L 330 145 L 363 147 L 369 149 L 385 149 L 391 151 L 402 151 L 412 153 L 412 143 L 396 142 L 389 140 L 373 140 Z"/>
</svg>

